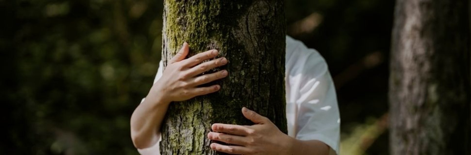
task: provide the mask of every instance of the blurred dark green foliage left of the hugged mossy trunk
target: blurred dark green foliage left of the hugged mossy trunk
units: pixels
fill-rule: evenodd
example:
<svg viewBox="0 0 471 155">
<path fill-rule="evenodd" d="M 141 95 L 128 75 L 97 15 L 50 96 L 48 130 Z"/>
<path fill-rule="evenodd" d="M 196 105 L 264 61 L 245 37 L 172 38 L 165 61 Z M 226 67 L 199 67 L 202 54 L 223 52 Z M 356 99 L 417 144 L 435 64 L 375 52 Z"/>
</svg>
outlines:
<svg viewBox="0 0 471 155">
<path fill-rule="evenodd" d="M 2 151 L 136 154 L 129 119 L 160 59 L 158 1 L 4 3 L 13 12 L 7 22 L 13 32 L 2 42 L 13 46 L 4 51 L 11 53 L 3 57 L 10 61 L 3 67 L 14 73 L 8 74 L 11 89 L 3 94 L 16 116 L 8 132 L 13 143 Z M 19 124 L 26 129 L 17 131 Z"/>
</svg>

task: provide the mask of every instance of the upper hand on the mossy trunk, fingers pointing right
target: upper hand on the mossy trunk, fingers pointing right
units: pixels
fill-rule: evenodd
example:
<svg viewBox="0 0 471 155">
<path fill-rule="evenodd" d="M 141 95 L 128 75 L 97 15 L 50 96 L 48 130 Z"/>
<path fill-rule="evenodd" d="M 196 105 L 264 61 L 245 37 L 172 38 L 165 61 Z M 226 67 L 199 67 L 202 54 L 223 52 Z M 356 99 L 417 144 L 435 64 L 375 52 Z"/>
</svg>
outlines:
<svg viewBox="0 0 471 155">
<path fill-rule="evenodd" d="M 197 77 L 205 71 L 227 64 L 227 59 L 222 57 L 203 62 L 217 56 L 219 54 L 217 50 L 209 50 L 185 59 L 188 50 L 188 44 L 184 43 L 180 51 L 168 62 L 162 77 L 151 88 L 152 94 L 158 95 L 163 103 L 185 101 L 195 96 L 214 93 L 220 89 L 219 85 L 208 87 L 198 87 L 198 85 L 227 76 L 227 70 L 220 70 Z"/>
</svg>

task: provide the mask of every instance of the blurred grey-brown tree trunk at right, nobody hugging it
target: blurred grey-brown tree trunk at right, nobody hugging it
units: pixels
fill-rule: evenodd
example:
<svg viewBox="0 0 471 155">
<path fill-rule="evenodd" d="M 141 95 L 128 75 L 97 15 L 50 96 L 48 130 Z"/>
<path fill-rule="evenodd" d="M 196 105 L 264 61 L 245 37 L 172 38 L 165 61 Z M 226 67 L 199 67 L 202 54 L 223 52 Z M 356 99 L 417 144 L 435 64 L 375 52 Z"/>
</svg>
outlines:
<svg viewBox="0 0 471 155">
<path fill-rule="evenodd" d="M 392 155 L 471 155 L 468 0 L 397 0 Z"/>
</svg>

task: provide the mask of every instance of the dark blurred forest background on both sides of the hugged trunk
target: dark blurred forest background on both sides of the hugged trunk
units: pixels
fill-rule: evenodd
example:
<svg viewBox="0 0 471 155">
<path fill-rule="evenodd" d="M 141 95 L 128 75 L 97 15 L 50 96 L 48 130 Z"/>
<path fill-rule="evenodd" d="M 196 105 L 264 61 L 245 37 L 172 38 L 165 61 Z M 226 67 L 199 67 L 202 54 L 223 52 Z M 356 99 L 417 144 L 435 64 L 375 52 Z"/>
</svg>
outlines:
<svg viewBox="0 0 471 155">
<path fill-rule="evenodd" d="M 329 65 L 342 154 L 388 154 L 394 0 L 285 8 L 288 34 Z M 138 154 L 129 121 L 158 68 L 162 1 L 0 0 L 0 17 L 0 154 Z"/>
</svg>

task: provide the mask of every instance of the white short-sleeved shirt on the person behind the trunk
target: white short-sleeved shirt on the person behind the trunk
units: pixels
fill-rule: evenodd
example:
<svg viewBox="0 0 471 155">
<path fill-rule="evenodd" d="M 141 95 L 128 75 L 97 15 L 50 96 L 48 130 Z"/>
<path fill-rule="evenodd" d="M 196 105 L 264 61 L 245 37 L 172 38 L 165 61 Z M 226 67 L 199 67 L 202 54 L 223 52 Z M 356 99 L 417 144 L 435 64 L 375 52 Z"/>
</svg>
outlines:
<svg viewBox="0 0 471 155">
<path fill-rule="evenodd" d="M 154 83 L 162 77 L 162 66 L 161 61 Z M 331 155 L 338 155 L 340 115 L 324 58 L 286 36 L 285 76 L 288 135 L 298 140 L 322 141 L 331 147 Z M 153 147 L 138 151 L 142 155 L 159 155 L 159 143 L 160 140 Z"/>
</svg>

